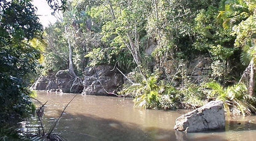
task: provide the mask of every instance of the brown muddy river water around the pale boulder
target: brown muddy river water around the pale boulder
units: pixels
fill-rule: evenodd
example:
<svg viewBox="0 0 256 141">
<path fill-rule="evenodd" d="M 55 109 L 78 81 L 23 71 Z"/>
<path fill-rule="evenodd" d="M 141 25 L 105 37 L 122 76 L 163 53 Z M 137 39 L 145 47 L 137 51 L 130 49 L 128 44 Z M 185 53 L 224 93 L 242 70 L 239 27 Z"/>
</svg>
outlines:
<svg viewBox="0 0 256 141">
<path fill-rule="evenodd" d="M 47 102 L 44 124 L 48 130 L 74 94 L 38 92 Z M 36 102 L 35 102 L 36 103 Z M 78 95 L 67 107 L 54 132 L 67 140 L 256 140 L 256 116 L 226 119 L 222 131 L 174 131 L 175 119 L 188 110 L 143 110 L 132 99 Z M 33 121 L 26 126 L 33 131 Z M 36 131 L 36 129 L 34 129 Z"/>
</svg>

